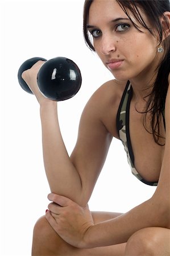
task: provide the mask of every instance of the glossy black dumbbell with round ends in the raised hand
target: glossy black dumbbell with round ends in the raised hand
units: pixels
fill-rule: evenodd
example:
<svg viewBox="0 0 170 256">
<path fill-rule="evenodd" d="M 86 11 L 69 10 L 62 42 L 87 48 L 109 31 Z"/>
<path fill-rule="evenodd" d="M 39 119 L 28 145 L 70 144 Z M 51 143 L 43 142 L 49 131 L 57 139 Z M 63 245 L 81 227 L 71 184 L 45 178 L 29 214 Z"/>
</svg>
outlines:
<svg viewBox="0 0 170 256">
<path fill-rule="evenodd" d="M 56 57 L 51 60 L 34 57 L 24 61 L 18 71 L 18 81 L 23 90 L 32 94 L 22 79 L 22 73 L 39 60 L 45 61 L 37 76 L 39 90 L 45 97 L 54 101 L 64 101 L 78 92 L 82 82 L 80 69 L 76 63 L 66 57 Z"/>
</svg>

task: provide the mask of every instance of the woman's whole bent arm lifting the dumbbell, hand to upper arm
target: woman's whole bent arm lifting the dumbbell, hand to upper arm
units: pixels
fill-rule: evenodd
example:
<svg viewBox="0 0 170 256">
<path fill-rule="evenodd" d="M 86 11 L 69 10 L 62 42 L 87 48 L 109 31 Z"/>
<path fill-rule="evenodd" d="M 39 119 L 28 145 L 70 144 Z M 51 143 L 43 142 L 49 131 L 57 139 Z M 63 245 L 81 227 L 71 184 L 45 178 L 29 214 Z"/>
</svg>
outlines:
<svg viewBox="0 0 170 256">
<path fill-rule="evenodd" d="M 36 75 L 41 65 L 42 61 L 38 61 L 23 72 L 22 77 L 40 104 L 44 167 L 49 187 L 51 192 L 68 197 L 84 207 L 92 194 L 113 137 L 103 122 L 108 112 L 108 93 L 105 93 L 105 86 L 101 86 L 85 106 L 77 143 L 69 157 L 60 132 L 57 102 L 45 98 L 38 90 Z"/>
</svg>

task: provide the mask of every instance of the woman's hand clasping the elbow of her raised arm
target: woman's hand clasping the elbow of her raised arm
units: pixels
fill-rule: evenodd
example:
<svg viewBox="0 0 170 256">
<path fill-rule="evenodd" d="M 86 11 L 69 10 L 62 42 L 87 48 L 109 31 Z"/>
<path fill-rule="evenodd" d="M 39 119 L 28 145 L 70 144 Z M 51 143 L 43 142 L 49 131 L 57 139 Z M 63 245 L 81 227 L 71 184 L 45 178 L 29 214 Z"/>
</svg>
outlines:
<svg viewBox="0 0 170 256">
<path fill-rule="evenodd" d="M 85 234 L 94 225 L 88 205 L 80 207 L 71 199 L 56 194 L 49 194 L 53 201 L 45 214 L 47 221 L 63 240 L 78 248 L 85 248 Z"/>
</svg>

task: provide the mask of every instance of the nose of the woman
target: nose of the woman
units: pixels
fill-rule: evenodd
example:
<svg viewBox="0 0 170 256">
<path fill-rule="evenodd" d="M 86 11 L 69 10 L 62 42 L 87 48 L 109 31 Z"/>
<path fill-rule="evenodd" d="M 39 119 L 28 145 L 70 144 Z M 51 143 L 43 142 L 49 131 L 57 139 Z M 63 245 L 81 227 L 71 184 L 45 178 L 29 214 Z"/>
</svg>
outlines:
<svg viewBox="0 0 170 256">
<path fill-rule="evenodd" d="M 116 47 L 113 35 L 102 35 L 100 51 L 103 55 L 108 55 L 110 52 L 115 52 Z"/>
</svg>

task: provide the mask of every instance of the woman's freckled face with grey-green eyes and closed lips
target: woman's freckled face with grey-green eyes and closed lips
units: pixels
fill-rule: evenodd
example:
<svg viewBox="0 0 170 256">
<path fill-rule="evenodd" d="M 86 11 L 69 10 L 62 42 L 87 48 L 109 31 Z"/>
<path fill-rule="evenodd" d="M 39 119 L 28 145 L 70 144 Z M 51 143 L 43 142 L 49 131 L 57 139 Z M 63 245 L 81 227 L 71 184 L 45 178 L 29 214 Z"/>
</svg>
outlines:
<svg viewBox="0 0 170 256">
<path fill-rule="evenodd" d="M 139 25 L 132 15 L 131 19 Z M 136 30 L 115 0 L 94 0 L 90 6 L 88 30 L 94 49 L 117 80 L 144 75 L 157 65 L 158 40 L 139 26 L 143 33 Z"/>
</svg>

